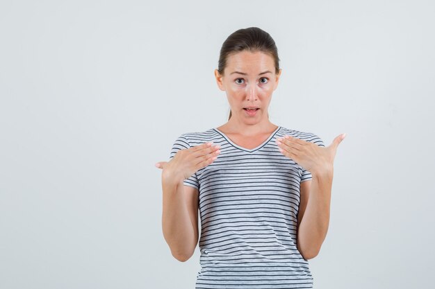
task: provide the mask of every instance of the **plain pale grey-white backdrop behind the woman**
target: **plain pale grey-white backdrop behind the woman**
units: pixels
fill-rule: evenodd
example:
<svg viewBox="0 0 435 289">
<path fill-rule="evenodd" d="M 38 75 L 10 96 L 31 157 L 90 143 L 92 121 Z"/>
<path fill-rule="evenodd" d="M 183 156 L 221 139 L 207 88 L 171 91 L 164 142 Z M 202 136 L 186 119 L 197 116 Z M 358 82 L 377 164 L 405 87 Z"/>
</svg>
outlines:
<svg viewBox="0 0 435 289">
<path fill-rule="evenodd" d="M 0 288 L 195 288 L 170 254 L 161 170 L 227 122 L 235 30 L 270 33 L 270 120 L 334 162 L 315 288 L 433 288 L 434 1 L 1 1 Z"/>
</svg>

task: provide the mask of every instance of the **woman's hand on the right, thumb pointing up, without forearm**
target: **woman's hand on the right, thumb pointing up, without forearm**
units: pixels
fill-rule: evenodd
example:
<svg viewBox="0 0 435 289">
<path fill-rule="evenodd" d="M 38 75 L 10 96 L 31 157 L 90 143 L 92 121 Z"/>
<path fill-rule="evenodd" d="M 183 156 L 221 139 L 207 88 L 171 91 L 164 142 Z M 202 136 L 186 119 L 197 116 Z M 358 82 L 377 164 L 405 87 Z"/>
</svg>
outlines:
<svg viewBox="0 0 435 289">
<path fill-rule="evenodd" d="M 311 141 L 304 141 L 289 135 L 277 139 L 277 145 L 283 155 L 293 159 L 310 173 L 317 175 L 325 170 L 331 171 L 333 169 L 338 145 L 343 141 L 345 135 L 338 135 L 327 147 L 318 146 Z"/>
</svg>

